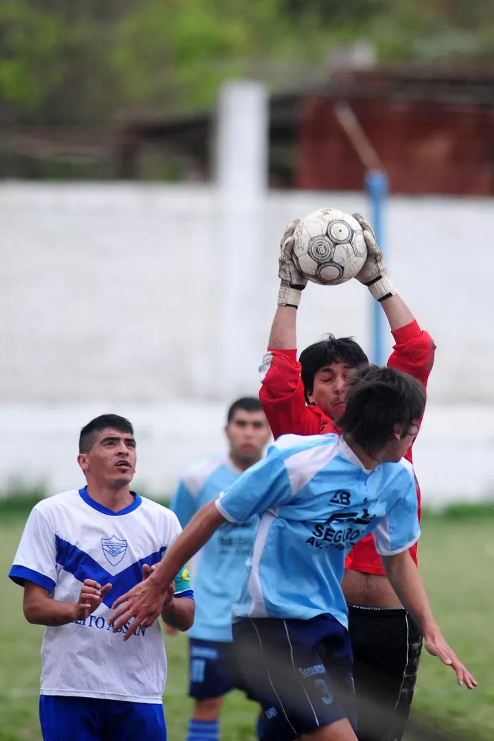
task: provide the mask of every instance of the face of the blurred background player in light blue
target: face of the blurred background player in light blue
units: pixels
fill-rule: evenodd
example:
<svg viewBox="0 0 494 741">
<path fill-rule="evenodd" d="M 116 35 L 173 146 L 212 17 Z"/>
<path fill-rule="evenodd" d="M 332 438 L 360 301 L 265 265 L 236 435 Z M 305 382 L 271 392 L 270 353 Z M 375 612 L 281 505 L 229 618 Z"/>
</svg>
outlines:
<svg viewBox="0 0 494 741">
<path fill-rule="evenodd" d="M 230 442 L 230 456 L 239 468 L 248 468 L 261 459 L 271 435 L 264 412 L 246 409 L 236 409 L 225 433 Z"/>
</svg>

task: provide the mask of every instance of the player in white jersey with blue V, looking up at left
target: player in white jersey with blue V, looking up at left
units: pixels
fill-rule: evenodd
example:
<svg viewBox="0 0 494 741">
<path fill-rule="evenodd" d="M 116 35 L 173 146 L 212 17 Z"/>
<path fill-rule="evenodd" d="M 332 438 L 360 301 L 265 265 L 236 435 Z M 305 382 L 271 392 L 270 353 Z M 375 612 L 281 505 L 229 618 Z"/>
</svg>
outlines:
<svg viewBox="0 0 494 741">
<path fill-rule="evenodd" d="M 10 569 L 10 578 L 24 587 L 27 621 L 47 626 L 43 738 L 166 741 L 167 659 L 159 624 L 136 626 L 125 651 L 108 617 L 115 598 L 149 576 L 181 526 L 169 509 L 130 491 L 136 440 L 127 419 L 107 414 L 89 422 L 78 462 L 87 486 L 33 508 Z M 167 589 L 170 602 L 161 617 L 187 631 L 194 617 L 187 569 Z"/>
</svg>

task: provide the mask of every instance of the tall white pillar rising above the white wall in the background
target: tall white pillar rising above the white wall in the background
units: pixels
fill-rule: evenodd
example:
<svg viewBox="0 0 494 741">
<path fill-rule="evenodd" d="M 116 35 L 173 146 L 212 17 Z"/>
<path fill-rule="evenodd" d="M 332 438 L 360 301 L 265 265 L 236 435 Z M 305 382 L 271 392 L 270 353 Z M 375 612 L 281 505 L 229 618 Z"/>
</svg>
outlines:
<svg viewBox="0 0 494 741">
<path fill-rule="evenodd" d="M 258 390 L 268 116 L 267 92 L 260 82 L 227 82 L 221 88 L 216 138 L 222 273 L 216 391 L 224 399 Z"/>
</svg>

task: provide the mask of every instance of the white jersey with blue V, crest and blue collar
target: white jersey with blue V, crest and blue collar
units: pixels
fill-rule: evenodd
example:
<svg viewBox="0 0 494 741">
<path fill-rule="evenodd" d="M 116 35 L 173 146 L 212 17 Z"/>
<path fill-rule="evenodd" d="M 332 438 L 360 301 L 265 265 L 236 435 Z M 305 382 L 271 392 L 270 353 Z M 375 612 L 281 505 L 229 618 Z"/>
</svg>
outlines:
<svg viewBox="0 0 494 741">
<path fill-rule="evenodd" d="M 181 533 L 169 509 L 135 496 L 113 512 L 86 489 L 39 502 L 30 513 L 10 578 L 47 589 L 53 599 L 77 602 L 84 579 L 113 587 L 85 620 L 48 627 L 41 647 L 41 694 L 161 702 L 167 657 L 161 628 L 138 628 L 127 642 L 108 618 L 118 597 L 141 582 L 142 566 L 161 561 Z M 187 569 L 176 578 L 176 597 L 193 597 Z"/>
</svg>

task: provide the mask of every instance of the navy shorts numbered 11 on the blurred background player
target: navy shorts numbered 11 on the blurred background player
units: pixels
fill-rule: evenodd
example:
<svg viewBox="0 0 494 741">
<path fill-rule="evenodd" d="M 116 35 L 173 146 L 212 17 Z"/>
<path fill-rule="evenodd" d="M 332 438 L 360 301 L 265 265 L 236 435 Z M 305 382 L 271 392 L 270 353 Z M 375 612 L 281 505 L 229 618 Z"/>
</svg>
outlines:
<svg viewBox="0 0 494 741">
<path fill-rule="evenodd" d="M 189 697 L 210 700 L 230 690 L 242 690 L 250 697 L 238 668 L 233 643 L 189 640 Z"/>
</svg>

